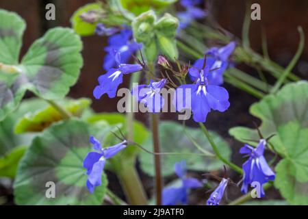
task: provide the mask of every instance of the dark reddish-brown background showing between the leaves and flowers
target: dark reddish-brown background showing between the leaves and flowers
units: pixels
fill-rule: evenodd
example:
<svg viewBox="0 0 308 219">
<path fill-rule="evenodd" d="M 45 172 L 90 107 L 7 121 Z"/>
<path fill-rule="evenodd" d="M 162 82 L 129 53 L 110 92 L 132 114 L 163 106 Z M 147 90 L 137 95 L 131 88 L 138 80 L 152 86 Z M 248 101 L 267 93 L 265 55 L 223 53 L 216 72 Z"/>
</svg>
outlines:
<svg viewBox="0 0 308 219">
<path fill-rule="evenodd" d="M 23 55 L 31 43 L 36 38 L 42 36 L 47 29 L 55 26 L 70 27 L 70 16 L 73 12 L 80 6 L 91 2 L 90 0 L 0 0 L 0 8 L 18 13 L 27 23 L 27 29 L 23 37 L 21 54 Z M 235 36 L 240 37 L 246 2 L 245 0 L 215 0 L 213 1 L 211 13 L 214 14 L 222 27 L 235 34 Z M 47 3 L 55 4 L 55 21 L 46 21 L 44 18 L 46 12 L 45 5 Z M 266 30 L 268 38 L 270 57 L 282 66 L 286 66 L 292 59 L 298 46 L 299 37 L 297 27 L 299 25 L 303 27 L 306 34 L 306 42 L 308 42 L 308 1 L 260 0 L 253 1 L 253 3 L 259 3 L 261 5 L 261 21 L 252 21 L 251 23 L 251 45 L 253 49 L 261 53 L 261 27 L 263 27 Z M 107 39 L 99 36 L 90 36 L 82 40 L 84 42 L 84 49 L 82 51 L 84 67 L 81 70 L 79 81 L 70 90 L 69 96 L 74 98 L 88 97 L 92 99 L 92 107 L 97 112 L 114 112 L 116 111 L 118 99 L 108 99 L 107 96 L 103 96 L 100 101 L 96 101 L 92 96 L 92 89 L 97 84 L 97 77 L 103 73 L 102 63 L 103 56 L 105 55 L 103 48 L 107 43 Z M 253 69 L 247 68 L 246 66 L 240 66 L 240 68 L 246 72 L 253 73 Z M 304 79 L 308 78 L 308 43 L 305 44 L 305 51 L 293 72 Z M 122 84 L 123 87 L 127 86 L 127 79 L 125 77 L 125 83 Z M 229 136 L 228 130 L 231 127 L 239 125 L 253 127 L 253 120 L 258 122 L 256 118 L 248 114 L 249 106 L 251 103 L 257 101 L 257 99 L 232 86 L 225 85 L 225 87 L 229 90 L 231 107 L 224 114 L 212 112 L 207 117 L 207 127 L 217 131 L 230 143 L 233 150 L 233 162 L 241 165 L 244 159 L 237 152 L 242 145 Z M 146 116 L 137 114 L 136 117 L 148 125 Z M 176 114 L 164 114 L 161 117 L 166 120 L 175 119 Z M 188 125 L 194 126 L 196 124 L 190 121 Z M 234 181 L 240 180 L 236 178 L 233 171 L 230 170 L 228 173 L 229 177 L 233 178 Z M 201 179 L 200 172 L 192 172 L 191 174 Z M 151 177 L 144 175 L 141 171 L 140 176 L 148 195 L 150 195 L 153 188 Z M 116 176 L 109 174 L 109 177 L 110 188 L 121 198 L 125 198 Z M 281 198 L 279 192 L 274 189 L 269 190 L 267 194 L 267 197 L 270 199 Z M 10 204 L 13 204 L 12 190 L 0 187 L 0 196 L 3 195 L 8 196 Z M 204 205 L 206 196 L 205 191 L 198 190 L 192 192 L 190 203 Z M 240 190 L 230 188 L 228 196 L 232 200 L 240 196 Z"/>
</svg>

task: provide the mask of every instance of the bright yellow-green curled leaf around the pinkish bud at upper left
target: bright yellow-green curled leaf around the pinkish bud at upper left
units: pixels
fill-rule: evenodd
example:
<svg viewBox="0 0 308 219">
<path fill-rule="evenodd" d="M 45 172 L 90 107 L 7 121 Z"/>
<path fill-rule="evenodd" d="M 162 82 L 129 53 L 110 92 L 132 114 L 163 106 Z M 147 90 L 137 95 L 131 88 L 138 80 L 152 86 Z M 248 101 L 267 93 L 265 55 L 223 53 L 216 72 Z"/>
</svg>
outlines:
<svg viewBox="0 0 308 219">
<path fill-rule="evenodd" d="M 101 9 L 101 3 L 89 3 L 79 8 L 73 14 L 72 18 L 70 18 L 70 23 L 72 23 L 73 29 L 77 34 L 80 36 L 91 36 L 94 34 L 97 23 L 85 22 L 80 18 L 80 15 L 90 10 L 99 9 Z"/>
</svg>

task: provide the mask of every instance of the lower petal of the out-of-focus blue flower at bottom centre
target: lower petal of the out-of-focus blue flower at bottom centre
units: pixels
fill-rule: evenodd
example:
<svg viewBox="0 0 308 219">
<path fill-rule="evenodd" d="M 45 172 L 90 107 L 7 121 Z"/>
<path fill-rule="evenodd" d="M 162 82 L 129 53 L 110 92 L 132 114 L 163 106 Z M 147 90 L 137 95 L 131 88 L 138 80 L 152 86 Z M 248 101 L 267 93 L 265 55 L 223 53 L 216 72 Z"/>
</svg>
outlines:
<svg viewBox="0 0 308 219">
<path fill-rule="evenodd" d="M 187 202 L 187 192 L 183 187 L 174 188 L 168 187 L 164 188 L 162 191 L 162 204 L 163 205 L 177 205 L 179 203 L 186 204 Z"/>
</svg>

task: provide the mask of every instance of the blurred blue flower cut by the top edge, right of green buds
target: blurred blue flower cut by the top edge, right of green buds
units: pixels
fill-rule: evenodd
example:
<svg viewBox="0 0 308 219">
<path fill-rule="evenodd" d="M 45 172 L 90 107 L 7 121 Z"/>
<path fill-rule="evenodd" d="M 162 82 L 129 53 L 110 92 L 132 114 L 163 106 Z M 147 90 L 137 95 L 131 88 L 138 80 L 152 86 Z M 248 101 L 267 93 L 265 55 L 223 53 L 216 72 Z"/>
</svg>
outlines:
<svg viewBox="0 0 308 219">
<path fill-rule="evenodd" d="M 201 8 L 196 7 L 196 5 L 201 4 L 203 0 L 182 0 L 181 5 L 185 7 L 185 11 L 178 12 L 177 16 L 179 18 L 180 24 L 179 28 L 183 29 L 190 25 L 195 19 L 201 19 L 207 16 L 207 12 Z"/>
</svg>

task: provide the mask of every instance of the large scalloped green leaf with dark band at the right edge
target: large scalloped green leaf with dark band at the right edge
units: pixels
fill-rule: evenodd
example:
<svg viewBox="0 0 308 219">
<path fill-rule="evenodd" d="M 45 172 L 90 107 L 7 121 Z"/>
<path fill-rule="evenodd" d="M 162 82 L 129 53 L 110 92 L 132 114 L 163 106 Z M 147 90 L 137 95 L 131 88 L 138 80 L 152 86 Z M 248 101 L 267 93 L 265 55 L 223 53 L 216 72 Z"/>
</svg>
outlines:
<svg viewBox="0 0 308 219">
<path fill-rule="evenodd" d="M 276 167 L 274 181 L 283 197 L 294 205 L 308 204 L 308 82 L 285 85 L 277 94 L 266 96 L 251 106 L 251 114 L 260 118 L 259 127 L 283 159 Z M 231 129 L 236 139 L 257 140 L 256 131 L 245 127 Z"/>
</svg>

